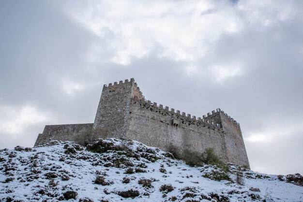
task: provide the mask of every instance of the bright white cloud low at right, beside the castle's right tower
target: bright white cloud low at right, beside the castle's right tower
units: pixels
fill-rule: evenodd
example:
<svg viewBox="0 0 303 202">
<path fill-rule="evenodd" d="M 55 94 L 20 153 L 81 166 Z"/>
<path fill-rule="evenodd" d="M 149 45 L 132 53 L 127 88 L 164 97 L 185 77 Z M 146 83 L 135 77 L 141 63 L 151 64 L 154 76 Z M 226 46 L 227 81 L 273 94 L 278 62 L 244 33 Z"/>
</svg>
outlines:
<svg viewBox="0 0 303 202">
<path fill-rule="evenodd" d="M 281 121 L 282 120 L 282 121 Z M 252 170 L 261 173 L 289 174 L 302 172 L 302 120 L 275 120 L 244 137 Z"/>
</svg>

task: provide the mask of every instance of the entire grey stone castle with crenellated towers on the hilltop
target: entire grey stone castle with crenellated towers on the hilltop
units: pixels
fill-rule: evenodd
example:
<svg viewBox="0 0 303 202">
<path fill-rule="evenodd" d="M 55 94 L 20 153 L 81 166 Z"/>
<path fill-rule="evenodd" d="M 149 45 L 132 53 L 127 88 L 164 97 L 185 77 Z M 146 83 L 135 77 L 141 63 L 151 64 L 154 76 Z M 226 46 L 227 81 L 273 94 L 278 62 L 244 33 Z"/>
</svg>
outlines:
<svg viewBox="0 0 303 202">
<path fill-rule="evenodd" d="M 249 167 L 240 125 L 233 118 L 219 108 L 197 118 L 146 101 L 133 78 L 103 86 L 94 123 L 46 125 L 34 146 L 76 141 L 98 129 L 107 137 L 129 138 L 163 150 L 177 148 L 180 156 L 185 150 L 202 153 L 213 147 L 225 162 Z"/>
</svg>

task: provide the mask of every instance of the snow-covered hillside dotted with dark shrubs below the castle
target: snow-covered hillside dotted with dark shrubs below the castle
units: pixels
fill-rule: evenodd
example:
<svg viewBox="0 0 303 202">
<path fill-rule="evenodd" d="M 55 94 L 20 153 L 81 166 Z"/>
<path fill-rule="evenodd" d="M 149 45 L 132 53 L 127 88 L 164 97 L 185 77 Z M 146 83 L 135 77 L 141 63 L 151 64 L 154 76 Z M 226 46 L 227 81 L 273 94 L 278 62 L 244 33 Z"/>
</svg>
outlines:
<svg viewBox="0 0 303 202">
<path fill-rule="evenodd" d="M 0 201 L 303 200 L 303 187 L 285 182 L 285 176 L 242 168 L 244 185 L 239 185 L 234 182 L 238 169 L 230 164 L 223 177 L 230 181 L 216 181 L 224 172 L 215 166 L 190 167 L 136 141 L 111 138 L 88 147 L 51 142 L 0 151 Z"/>
</svg>

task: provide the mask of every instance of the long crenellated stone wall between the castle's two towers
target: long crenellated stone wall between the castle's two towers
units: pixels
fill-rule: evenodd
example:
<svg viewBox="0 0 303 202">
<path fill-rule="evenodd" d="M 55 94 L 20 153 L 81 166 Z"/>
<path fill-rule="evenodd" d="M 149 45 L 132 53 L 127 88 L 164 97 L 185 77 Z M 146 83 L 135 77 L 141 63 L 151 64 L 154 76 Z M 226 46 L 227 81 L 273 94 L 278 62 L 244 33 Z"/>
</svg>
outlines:
<svg viewBox="0 0 303 202">
<path fill-rule="evenodd" d="M 229 161 L 225 134 L 219 126 L 150 101 L 132 99 L 126 137 L 163 150 L 173 146 L 178 148 L 179 156 L 185 149 L 202 153 L 205 148 L 213 147 L 223 160 Z"/>
</svg>

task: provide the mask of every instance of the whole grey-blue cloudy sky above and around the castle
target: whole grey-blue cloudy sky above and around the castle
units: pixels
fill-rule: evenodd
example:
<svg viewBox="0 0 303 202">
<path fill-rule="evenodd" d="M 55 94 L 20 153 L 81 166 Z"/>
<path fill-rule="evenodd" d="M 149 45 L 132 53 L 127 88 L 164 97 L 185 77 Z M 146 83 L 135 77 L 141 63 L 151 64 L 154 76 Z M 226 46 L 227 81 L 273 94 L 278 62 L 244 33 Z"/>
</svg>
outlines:
<svg viewBox="0 0 303 202">
<path fill-rule="evenodd" d="M 103 84 L 241 124 L 252 170 L 303 173 L 302 0 L 0 1 L 0 148 L 92 123 Z"/>
</svg>

